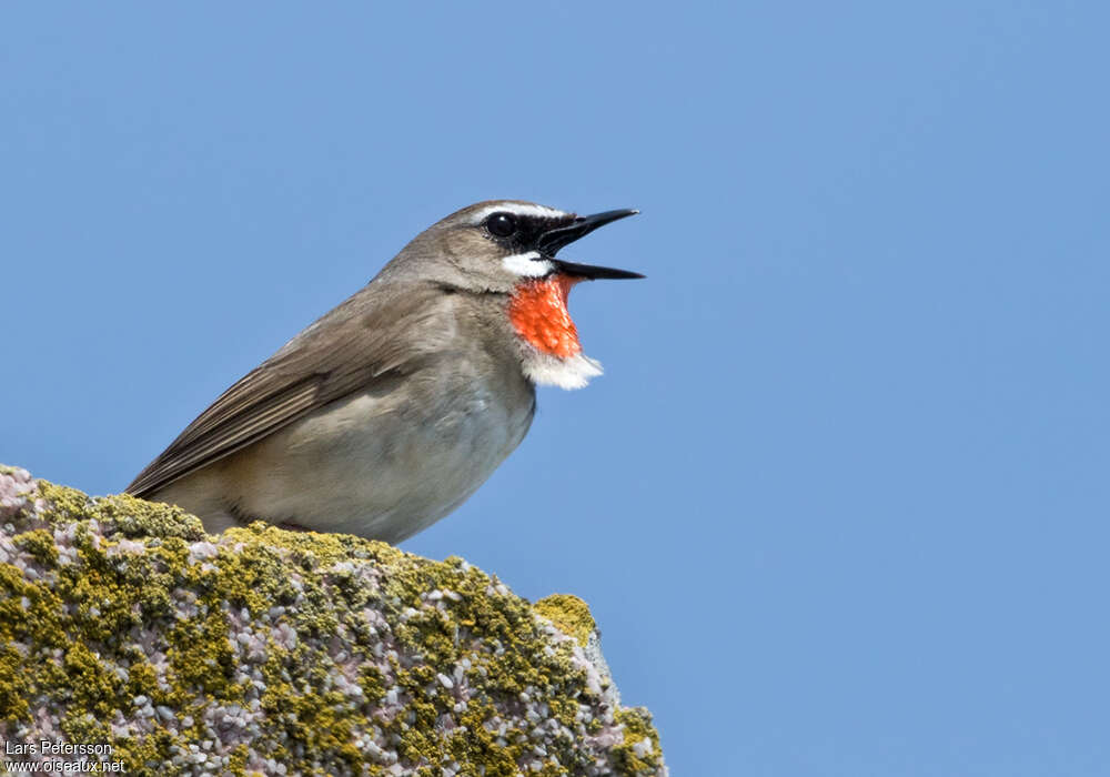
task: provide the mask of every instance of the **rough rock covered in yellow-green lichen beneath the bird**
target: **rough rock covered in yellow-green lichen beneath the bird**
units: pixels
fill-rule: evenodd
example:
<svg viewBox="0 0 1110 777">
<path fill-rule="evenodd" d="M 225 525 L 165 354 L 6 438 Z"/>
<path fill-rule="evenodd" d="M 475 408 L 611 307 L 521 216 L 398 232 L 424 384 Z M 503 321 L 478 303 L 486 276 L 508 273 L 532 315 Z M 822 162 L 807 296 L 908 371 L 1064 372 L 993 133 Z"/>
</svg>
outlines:
<svg viewBox="0 0 1110 777">
<path fill-rule="evenodd" d="M 666 775 L 596 640 L 581 599 L 529 605 L 460 558 L 261 523 L 210 536 L 175 507 L 0 467 L 0 740 L 24 747 L 9 760 Z"/>
</svg>

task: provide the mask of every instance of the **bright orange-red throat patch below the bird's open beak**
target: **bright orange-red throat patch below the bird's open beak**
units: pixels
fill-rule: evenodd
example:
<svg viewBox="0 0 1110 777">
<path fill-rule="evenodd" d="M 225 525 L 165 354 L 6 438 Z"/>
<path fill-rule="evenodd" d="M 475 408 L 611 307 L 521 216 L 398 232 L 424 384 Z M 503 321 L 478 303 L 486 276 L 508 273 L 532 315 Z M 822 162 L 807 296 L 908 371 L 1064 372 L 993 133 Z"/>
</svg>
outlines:
<svg viewBox="0 0 1110 777">
<path fill-rule="evenodd" d="M 578 330 L 566 299 L 581 279 L 555 274 L 524 281 L 513 290 L 508 320 L 513 329 L 541 353 L 569 359 L 582 353 Z"/>
</svg>

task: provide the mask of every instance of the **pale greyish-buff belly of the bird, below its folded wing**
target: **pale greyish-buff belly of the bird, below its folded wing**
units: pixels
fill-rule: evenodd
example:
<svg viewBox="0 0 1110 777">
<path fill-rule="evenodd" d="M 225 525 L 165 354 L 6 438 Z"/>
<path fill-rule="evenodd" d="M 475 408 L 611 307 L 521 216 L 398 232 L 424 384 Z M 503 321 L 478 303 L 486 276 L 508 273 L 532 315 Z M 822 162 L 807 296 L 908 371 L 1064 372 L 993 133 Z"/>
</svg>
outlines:
<svg viewBox="0 0 1110 777">
<path fill-rule="evenodd" d="M 528 400 L 505 406 L 471 389 L 422 418 L 389 394 L 356 394 L 208 474 L 244 519 L 396 543 L 447 515 L 493 474 L 528 430 Z M 205 525 L 219 531 L 222 519 Z"/>
</svg>

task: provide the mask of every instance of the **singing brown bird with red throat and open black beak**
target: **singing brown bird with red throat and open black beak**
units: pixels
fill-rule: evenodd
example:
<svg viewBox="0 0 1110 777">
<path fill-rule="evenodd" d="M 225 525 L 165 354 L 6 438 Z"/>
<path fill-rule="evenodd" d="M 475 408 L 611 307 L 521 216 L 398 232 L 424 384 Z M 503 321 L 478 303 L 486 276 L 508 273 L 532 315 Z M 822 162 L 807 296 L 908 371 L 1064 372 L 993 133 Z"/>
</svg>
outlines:
<svg viewBox="0 0 1110 777">
<path fill-rule="evenodd" d="M 125 492 L 205 531 L 261 519 L 397 544 L 465 502 L 524 438 L 536 386 L 602 374 L 571 289 L 627 270 L 558 259 L 638 213 L 463 208 L 234 383 Z"/>
</svg>

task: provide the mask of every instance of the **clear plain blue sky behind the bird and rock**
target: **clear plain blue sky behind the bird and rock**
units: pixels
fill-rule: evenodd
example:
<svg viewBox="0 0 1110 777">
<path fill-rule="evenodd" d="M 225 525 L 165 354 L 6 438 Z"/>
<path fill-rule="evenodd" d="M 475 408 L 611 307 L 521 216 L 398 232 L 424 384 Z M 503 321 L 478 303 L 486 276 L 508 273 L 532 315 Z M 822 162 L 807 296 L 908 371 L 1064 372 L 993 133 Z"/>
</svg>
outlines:
<svg viewBox="0 0 1110 777">
<path fill-rule="evenodd" d="M 1096 2 L 0 10 L 0 461 L 93 493 L 476 200 L 606 375 L 404 547 L 587 599 L 676 775 L 1110 774 Z"/>
</svg>

